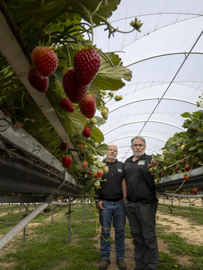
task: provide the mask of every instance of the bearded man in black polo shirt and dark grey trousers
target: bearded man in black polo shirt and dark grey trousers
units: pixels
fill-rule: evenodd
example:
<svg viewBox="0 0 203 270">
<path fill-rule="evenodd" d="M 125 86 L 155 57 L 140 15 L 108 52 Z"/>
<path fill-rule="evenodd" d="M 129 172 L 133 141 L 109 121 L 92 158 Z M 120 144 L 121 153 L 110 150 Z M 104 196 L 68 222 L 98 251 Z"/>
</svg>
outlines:
<svg viewBox="0 0 203 270">
<path fill-rule="evenodd" d="M 155 270 L 159 259 L 155 232 L 158 200 L 148 164 L 155 166 L 157 163 L 151 155 L 145 154 L 146 142 L 143 137 L 134 137 L 131 148 L 133 156 L 126 159 L 123 167 L 122 190 L 135 247 L 134 270 Z"/>
</svg>

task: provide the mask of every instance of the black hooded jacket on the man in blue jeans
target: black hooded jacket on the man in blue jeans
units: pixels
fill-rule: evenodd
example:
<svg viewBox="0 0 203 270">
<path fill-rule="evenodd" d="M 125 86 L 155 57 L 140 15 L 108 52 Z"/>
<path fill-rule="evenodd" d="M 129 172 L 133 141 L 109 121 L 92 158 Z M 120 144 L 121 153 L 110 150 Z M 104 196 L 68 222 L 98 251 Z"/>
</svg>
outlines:
<svg viewBox="0 0 203 270">
<path fill-rule="evenodd" d="M 102 180 L 106 179 L 106 181 L 100 181 L 102 188 L 96 190 L 95 200 L 120 201 L 123 197 L 122 169 L 124 163 L 117 159 L 114 162 L 107 162 L 105 160 L 103 162 L 106 162 L 109 170 L 108 173 L 104 173 L 102 176 Z"/>
</svg>

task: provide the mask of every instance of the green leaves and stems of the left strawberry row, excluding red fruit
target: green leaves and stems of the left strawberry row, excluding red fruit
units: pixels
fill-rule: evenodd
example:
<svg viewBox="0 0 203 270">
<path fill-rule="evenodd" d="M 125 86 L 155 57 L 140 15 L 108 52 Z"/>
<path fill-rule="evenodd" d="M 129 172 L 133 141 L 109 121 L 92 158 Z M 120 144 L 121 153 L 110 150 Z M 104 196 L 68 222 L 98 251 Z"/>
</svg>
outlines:
<svg viewBox="0 0 203 270">
<path fill-rule="evenodd" d="M 59 106 L 59 102 L 66 97 L 62 79 L 64 73 L 73 68 L 74 55 L 81 48 L 97 48 L 93 44 L 92 31 L 94 27 L 105 24 L 109 37 L 117 31 L 108 22 L 108 18 L 116 10 L 120 0 L 103 2 L 100 0 L 7 0 L 4 2 L 11 16 L 9 23 L 13 23 L 11 27 L 17 31 L 22 50 L 30 67 L 32 67 L 31 54 L 35 46 L 50 46 L 57 53 L 58 68 L 53 75 L 49 76 L 46 96 L 56 114 L 60 116 L 59 121 L 65 126 L 67 137 L 71 138 L 76 146 L 87 144 L 87 149 L 80 153 L 82 159 L 88 160 L 91 165 L 97 168 L 98 156 L 103 156 L 107 151 L 106 144 L 101 144 L 104 136 L 98 127 L 106 121 L 97 116 L 98 127 L 96 126 L 92 130 L 90 139 L 84 138 L 82 131 L 84 126 L 89 124 L 89 120 L 81 114 L 78 104 L 74 104 L 74 112 L 63 111 Z M 9 17 L 8 14 L 7 16 Z M 141 24 L 135 19 L 132 31 L 138 30 L 138 26 Z M 87 40 L 84 36 L 88 36 Z M 105 54 L 102 52 L 102 48 L 99 51 L 102 57 L 101 69 L 90 83 L 88 90 L 96 98 L 97 109 L 102 110 L 106 104 L 106 95 L 109 95 L 110 99 L 114 98 L 113 91 L 122 88 L 125 85 L 123 80 L 130 81 L 132 75 L 131 71 L 122 65 L 118 55 Z M 17 127 L 24 125 L 23 128 L 27 132 L 31 133 L 36 140 L 60 160 L 64 154 L 58 148 L 61 143 L 60 136 L 42 114 L 29 91 L 12 70 L 12 65 L 7 63 L 2 54 L 0 54 L 0 66 L 0 108 L 16 122 Z M 104 90 L 108 92 L 102 92 Z M 43 97 L 44 94 L 42 94 L 42 99 Z M 50 109 L 52 110 L 52 108 Z M 95 147 L 96 142 L 99 145 Z M 71 152 L 69 151 L 68 154 Z M 92 154 L 97 156 L 94 162 L 90 160 Z M 80 179 L 82 176 L 82 171 L 75 160 L 67 171 L 75 179 Z M 89 188 L 86 185 L 86 192 L 91 191 L 94 185 L 93 180 L 92 184 L 89 184 Z"/>
</svg>

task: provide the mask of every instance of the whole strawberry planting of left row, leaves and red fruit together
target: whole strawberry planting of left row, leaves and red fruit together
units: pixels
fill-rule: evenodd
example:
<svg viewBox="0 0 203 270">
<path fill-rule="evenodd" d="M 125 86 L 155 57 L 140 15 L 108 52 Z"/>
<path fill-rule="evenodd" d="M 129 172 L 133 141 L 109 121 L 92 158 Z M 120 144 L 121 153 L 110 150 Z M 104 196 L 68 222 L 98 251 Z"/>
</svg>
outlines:
<svg viewBox="0 0 203 270">
<path fill-rule="evenodd" d="M 61 160 L 68 173 L 84 185 L 85 192 L 90 192 L 99 184 L 93 175 L 101 168 L 99 157 L 107 151 L 97 127 L 108 117 L 106 97 L 121 100 L 121 96 L 114 97 L 114 92 L 125 85 L 123 80 L 130 81 L 132 77 L 117 54 L 98 50 L 93 40 L 93 28 L 100 24 L 106 24 L 109 36 L 120 31 L 108 22 L 120 0 L 5 3 L 30 67 L 33 66 L 26 74 L 29 83 L 37 91 L 46 92 L 59 121 L 66 127 L 67 140 L 61 142 L 2 54 L 0 109 L 15 121 L 17 128 L 23 127 Z M 135 19 L 131 26 L 129 32 L 140 31 L 141 23 Z M 84 39 L 85 32 L 88 40 Z M 96 110 L 105 112 L 103 117 L 95 116 Z M 72 159 L 68 138 L 94 173 L 84 174 Z"/>
</svg>

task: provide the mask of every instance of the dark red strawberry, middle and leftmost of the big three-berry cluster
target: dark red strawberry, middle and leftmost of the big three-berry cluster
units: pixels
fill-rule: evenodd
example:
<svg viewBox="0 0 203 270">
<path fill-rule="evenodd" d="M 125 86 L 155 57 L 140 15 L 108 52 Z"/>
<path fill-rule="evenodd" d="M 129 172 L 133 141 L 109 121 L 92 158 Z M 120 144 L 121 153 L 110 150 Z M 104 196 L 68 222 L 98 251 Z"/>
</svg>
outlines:
<svg viewBox="0 0 203 270">
<path fill-rule="evenodd" d="M 73 103 L 78 103 L 84 97 L 88 86 L 78 82 L 74 69 L 69 69 L 63 76 L 63 89 Z"/>
</svg>

